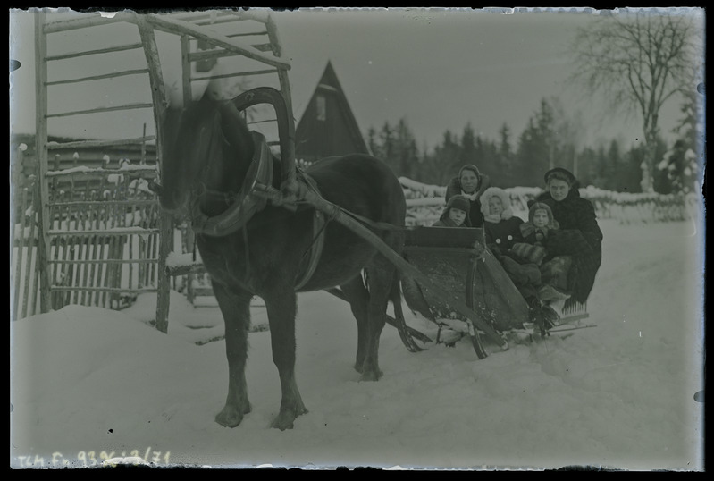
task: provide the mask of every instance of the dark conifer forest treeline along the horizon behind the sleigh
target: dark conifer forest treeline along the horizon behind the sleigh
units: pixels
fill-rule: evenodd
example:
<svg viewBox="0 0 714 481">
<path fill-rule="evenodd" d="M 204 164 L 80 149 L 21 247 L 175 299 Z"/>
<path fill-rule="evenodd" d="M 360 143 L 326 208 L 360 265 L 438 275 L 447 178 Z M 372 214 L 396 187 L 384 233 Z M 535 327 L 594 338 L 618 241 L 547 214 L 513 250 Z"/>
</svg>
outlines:
<svg viewBox="0 0 714 481">
<path fill-rule="evenodd" d="M 658 139 L 655 191 L 662 194 L 692 192 L 699 176 L 696 152 L 699 108 L 696 97 L 685 98 L 676 140 L 668 145 Z M 503 188 L 542 187 L 542 174 L 551 166 L 573 170 L 583 186 L 618 192 L 641 192 L 644 146 L 624 148 L 617 139 L 609 145 L 580 146 L 582 126 L 564 114 L 558 98 L 543 98 L 520 134 L 504 123 L 499 139 L 486 139 L 467 123 L 463 131 L 444 131 L 431 149 L 419 148 L 403 118 L 371 127 L 366 141 L 374 156 L 382 158 L 399 176 L 435 185 L 446 185 L 461 165 L 474 164 Z"/>
</svg>

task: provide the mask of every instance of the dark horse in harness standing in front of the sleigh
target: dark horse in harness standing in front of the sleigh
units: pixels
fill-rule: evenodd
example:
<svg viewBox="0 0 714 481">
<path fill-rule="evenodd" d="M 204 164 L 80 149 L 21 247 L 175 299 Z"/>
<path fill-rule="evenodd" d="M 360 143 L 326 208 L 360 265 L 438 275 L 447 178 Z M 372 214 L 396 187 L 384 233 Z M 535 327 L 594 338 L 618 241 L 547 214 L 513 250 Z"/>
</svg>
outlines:
<svg viewBox="0 0 714 481">
<path fill-rule="evenodd" d="M 160 183 L 154 184 L 154 190 L 163 210 L 188 215 L 194 224 L 200 224 L 202 216 L 224 215 L 235 205 L 231 204 L 235 192 L 245 190 L 255 178 L 251 159 L 265 152 L 265 144 L 258 145 L 260 136 L 248 130 L 232 100 L 206 96 L 183 108 L 170 106 L 162 124 L 164 154 Z M 269 156 L 267 167 L 261 169 L 268 174 L 272 171 L 266 182 L 280 190 L 286 167 L 276 156 Z M 294 164 L 287 168 L 297 171 Z M 388 165 L 374 156 L 350 154 L 324 158 L 304 174 L 320 196 L 335 206 L 374 225 L 396 226 L 374 232 L 401 254 L 404 232 L 399 228 L 405 224 L 406 200 Z M 239 426 L 251 410 L 245 377 L 249 305 L 253 296 L 259 296 L 265 301 L 273 363 L 281 382 L 280 412 L 271 426 L 284 430 L 293 428 L 295 419 L 307 413 L 295 379 L 297 293 L 340 288 L 357 320 L 354 368 L 361 381 L 377 381 L 382 376 L 378 350 L 389 302 L 401 308 L 399 273 L 369 242 L 327 220 L 319 232 L 323 235 L 321 255 L 306 279 L 301 275 L 306 270 L 306 253 L 318 237 L 315 207 L 300 202 L 292 209 L 259 204 L 250 204 L 254 215 L 245 224 L 239 223 L 238 229 L 196 232 L 197 249 L 225 323 L 228 395 L 215 421 Z"/>
</svg>

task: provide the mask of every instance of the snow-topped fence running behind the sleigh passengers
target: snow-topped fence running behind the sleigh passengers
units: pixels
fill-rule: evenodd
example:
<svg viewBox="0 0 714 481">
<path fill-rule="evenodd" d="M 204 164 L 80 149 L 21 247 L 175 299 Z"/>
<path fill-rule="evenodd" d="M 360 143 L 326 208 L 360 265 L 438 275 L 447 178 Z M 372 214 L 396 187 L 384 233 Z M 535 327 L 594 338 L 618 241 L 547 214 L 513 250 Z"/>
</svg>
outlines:
<svg viewBox="0 0 714 481">
<path fill-rule="evenodd" d="M 431 225 L 439 219 L 446 202 L 445 186 L 429 185 L 400 177 L 407 198 L 407 225 Z M 527 217 L 528 201 L 542 193 L 538 187 L 504 189 L 511 198 L 515 215 Z M 701 198 L 696 194 L 644 194 L 613 192 L 589 186 L 580 195 L 590 200 L 601 219 L 615 219 L 621 224 L 683 221 L 697 218 Z"/>
</svg>

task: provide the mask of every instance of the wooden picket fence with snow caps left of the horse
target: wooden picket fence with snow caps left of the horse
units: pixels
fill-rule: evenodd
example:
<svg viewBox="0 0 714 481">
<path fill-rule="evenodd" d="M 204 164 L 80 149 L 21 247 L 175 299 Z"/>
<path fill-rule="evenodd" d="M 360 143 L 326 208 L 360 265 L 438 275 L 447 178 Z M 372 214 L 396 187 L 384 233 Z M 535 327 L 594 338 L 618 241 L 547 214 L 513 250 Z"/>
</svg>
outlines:
<svg viewBox="0 0 714 481">
<path fill-rule="evenodd" d="M 76 158 L 76 156 L 75 156 Z M 47 173 L 49 229 L 46 265 L 39 260 L 38 182 L 34 175 L 13 189 L 11 316 L 40 312 L 39 274 L 46 272 L 50 308 L 81 304 L 122 308 L 141 292 L 156 291 L 159 273 L 159 206 L 147 189 L 155 166 L 73 166 Z M 13 165 L 18 186 L 20 163 Z"/>
</svg>

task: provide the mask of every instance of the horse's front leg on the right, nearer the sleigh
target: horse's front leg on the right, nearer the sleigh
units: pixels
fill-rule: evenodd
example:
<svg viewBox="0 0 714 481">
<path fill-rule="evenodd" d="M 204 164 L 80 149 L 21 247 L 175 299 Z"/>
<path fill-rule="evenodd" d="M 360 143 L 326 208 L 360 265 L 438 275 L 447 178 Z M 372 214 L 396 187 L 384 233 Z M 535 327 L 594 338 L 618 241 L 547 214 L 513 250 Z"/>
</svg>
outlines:
<svg viewBox="0 0 714 481">
<path fill-rule="evenodd" d="M 281 382 L 281 408 L 272 427 L 292 429 L 295 418 L 307 412 L 295 381 L 295 315 L 297 297 L 291 288 L 278 289 L 263 296 L 270 324 L 273 362 Z"/>
</svg>

